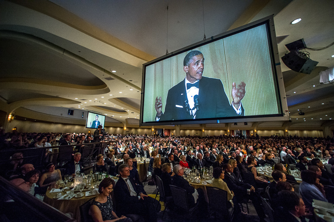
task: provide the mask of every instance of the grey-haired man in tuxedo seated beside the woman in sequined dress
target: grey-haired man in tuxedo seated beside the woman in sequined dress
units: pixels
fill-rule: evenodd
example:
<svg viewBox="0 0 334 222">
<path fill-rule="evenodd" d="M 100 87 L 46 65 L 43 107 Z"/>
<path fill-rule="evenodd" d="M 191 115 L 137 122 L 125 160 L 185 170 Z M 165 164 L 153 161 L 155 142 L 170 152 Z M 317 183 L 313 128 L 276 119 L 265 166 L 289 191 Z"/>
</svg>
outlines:
<svg viewBox="0 0 334 222">
<path fill-rule="evenodd" d="M 117 214 L 138 214 L 143 216 L 145 221 L 156 221 L 160 203 L 147 196 L 143 187 L 135 185 L 127 164 L 121 164 L 118 173 L 120 177 L 114 187 Z"/>
</svg>

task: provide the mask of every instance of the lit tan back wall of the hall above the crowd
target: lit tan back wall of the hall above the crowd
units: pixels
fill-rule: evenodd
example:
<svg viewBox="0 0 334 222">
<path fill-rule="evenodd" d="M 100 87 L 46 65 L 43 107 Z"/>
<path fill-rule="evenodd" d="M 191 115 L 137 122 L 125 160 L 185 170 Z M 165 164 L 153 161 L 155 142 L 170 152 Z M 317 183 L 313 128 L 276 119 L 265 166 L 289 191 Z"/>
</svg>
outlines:
<svg viewBox="0 0 334 222">
<path fill-rule="evenodd" d="M 94 129 L 86 128 L 85 125 L 78 124 L 66 124 L 66 123 L 50 123 L 50 122 L 39 122 L 39 121 L 29 121 L 29 120 L 18 120 L 14 119 L 9 123 L 10 128 L 17 127 L 17 131 L 19 132 L 75 132 L 75 133 L 88 133 L 91 130 L 91 133 L 94 133 Z M 109 134 L 131 134 L 131 135 L 154 135 L 157 132 L 157 129 L 165 128 L 170 129 L 171 135 L 176 135 L 176 126 L 154 126 L 154 130 L 149 126 L 139 125 L 128 125 L 126 130 L 123 129 L 122 123 L 108 123 L 106 122 L 106 132 Z M 270 129 L 268 126 L 264 129 L 258 129 L 256 133 L 259 136 L 284 136 L 284 130 L 277 128 L 277 126 L 273 126 L 274 129 Z M 314 128 L 314 127 L 313 127 Z M 235 130 L 235 129 L 231 129 Z M 249 130 L 249 134 L 255 134 L 252 126 L 247 128 L 243 128 L 243 130 Z M 229 135 L 230 132 L 227 131 L 226 127 L 215 127 L 214 129 L 205 129 L 204 132 L 200 127 L 196 126 L 181 126 L 180 135 L 198 135 L 198 136 L 215 136 L 215 135 Z M 323 130 L 319 129 L 291 129 L 287 132 L 288 135 L 291 136 L 299 136 L 299 137 L 323 137 Z"/>
</svg>

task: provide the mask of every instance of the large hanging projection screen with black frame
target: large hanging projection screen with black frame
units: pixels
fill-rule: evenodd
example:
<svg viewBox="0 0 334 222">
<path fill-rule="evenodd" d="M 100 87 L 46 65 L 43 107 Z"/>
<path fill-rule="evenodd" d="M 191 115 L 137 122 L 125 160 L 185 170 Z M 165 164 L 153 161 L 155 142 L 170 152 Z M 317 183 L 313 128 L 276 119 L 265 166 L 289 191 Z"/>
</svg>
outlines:
<svg viewBox="0 0 334 222">
<path fill-rule="evenodd" d="M 274 56 L 277 43 L 272 20 L 272 17 L 260 20 L 144 64 L 140 124 L 287 120 L 283 112 L 287 110 L 284 86 L 278 80 L 279 58 Z M 187 96 L 184 69 L 184 58 L 191 51 L 200 51 L 204 58 L 197 91 L 200 98 L 197 104 L 203 106 L 194 119 L 191 114 L 181 114 L 189 112 L 188 101 L 192 99 Z M 241 115 L 240 110 L 237 114 L 236 109 L 231 109 L 233 82 L 236 86 L 245 83 Z M 160 97 L 162 118 L 156 116 L 155 109 L 155 100 Z M 216 112 L 218 106 L 220 110 L 228 109 Z"/>
</svg>

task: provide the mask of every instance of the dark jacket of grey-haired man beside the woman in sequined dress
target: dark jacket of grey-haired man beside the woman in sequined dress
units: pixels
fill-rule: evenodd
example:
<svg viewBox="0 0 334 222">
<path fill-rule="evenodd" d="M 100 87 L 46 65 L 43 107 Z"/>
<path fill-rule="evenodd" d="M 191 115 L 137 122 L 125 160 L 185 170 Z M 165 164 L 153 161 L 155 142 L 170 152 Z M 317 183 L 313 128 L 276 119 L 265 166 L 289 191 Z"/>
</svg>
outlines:
<svg viewBox="0 0 334 222">
<path fill-rule="evenodd" d="M 140 188 L 140 186 L 135 185 L 134 179 L 131 175 L 129 176 L 129 180 L 137 196 L 130 195 L 128 185 L 122 178 L 119 178 L 119 180 L 117 181 L 114 187 L 116 210 L 117 210 L 117 213 L 121 215 L 129 214 L 130 213 L 128 211 L 129 209 L 136 208 L 136 205 L 139 204 L 138 196 L 140 195 L 140 193 L 146 194 L 145 191 Z"/>
</svg>

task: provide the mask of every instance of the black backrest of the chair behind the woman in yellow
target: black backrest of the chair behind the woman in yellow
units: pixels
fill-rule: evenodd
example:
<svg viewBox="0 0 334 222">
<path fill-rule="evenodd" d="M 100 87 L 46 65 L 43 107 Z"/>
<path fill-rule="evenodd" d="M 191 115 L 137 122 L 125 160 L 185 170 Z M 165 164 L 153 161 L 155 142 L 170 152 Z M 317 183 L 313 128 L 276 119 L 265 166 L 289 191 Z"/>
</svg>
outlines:
<svg viewBox="0 0 334 222">
<path fill-rule="evenodd" d="M 212 211 L 227 215 L 227 192 L 217 187 L 206 187 L 209 207 Z"/>
</svg>

